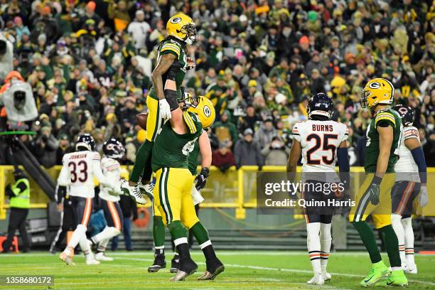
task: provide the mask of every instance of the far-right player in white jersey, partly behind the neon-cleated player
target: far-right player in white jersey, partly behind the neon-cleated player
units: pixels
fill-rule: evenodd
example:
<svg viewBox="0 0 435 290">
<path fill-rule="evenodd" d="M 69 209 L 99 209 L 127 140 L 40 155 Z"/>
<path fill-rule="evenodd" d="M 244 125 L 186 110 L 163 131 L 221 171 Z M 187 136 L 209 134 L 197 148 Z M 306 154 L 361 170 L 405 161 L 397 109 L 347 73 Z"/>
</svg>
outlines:
<svg viewBox="0 0 435 290">
<path fill-rule="evenodd" d="M 414 111 L 402 104 L 393 109 L 402 117 L 402 140 L 399 161 L 394 166 L 396 182 L 392 188 L 391 221 L 399 240 L 399 254 L 405 273 L 417 274 L 414 261 L 414 231 L 412 230 L 412 203 L 419 198 L 421 208 L 427 205 L 426 160 L 421 149 L 419 130 L 412 126 Z"/>
</svg>

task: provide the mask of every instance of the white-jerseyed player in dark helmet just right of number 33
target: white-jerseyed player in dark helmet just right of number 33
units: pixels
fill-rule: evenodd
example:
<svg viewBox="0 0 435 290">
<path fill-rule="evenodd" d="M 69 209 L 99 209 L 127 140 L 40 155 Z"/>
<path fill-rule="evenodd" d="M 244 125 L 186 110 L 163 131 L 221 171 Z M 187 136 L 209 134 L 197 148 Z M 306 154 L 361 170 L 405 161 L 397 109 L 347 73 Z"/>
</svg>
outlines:
<svg viewBox="0 0 435 290">
<path fill-rule="evenodd" d="M 119 206 L 119 195 L 122 195 L 121 185 L 121 165 L 119 160 L 125 154 L 124 146 L 115 138 L 110 138 L 103 144 L 104 157 L 101 159 L 101 167 L 107 181 L 111 187 L 100 185 L 100 205 L 104 211 L 104 218 L 107 227 L 102 232 L 91 237 L 91 242 L 97 245 L 95 259 L 98 261 L 112 261 L 111 257 L 104 254 L 107 243 L 112 237 L 116 237 L 122 232 L 124 227 L 124 217 Z M 115 188 L 115 190 L 113 189 Z"/>
</svg>

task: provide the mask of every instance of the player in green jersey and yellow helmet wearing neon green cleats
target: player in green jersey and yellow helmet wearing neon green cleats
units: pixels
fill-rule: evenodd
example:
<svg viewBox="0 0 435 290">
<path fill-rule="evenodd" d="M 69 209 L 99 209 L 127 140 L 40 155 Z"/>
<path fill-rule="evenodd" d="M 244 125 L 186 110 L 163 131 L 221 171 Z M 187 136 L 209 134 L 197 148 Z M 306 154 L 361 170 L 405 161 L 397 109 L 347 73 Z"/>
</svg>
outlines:
<svg viewBox="0 0 435 290">
<path fill-rule="evenodd" d="M 394 165 L 399 158 L 402 134 L 402 119 L 390 108 L 394 87 L 384 78 L 375 78 L 365 85 L 361 94 L 362 107 L 369 107 L 373 117 L 367 127 L 365 146 L 365 180 L 350 210 L 349 220 L 353 224 L 370 255 L 372 269 L 360 282 L 362 286 L 376 284 L 404 286 L 408 284 L 400 264 L 397 235 L 391 224 L 391 190 L 396 174 Z M 375 234 L 365 221 L 372 215 L 375 227 L 380 232 L 388 258 L 390 270 L 382 262 Z"/>
</svg>

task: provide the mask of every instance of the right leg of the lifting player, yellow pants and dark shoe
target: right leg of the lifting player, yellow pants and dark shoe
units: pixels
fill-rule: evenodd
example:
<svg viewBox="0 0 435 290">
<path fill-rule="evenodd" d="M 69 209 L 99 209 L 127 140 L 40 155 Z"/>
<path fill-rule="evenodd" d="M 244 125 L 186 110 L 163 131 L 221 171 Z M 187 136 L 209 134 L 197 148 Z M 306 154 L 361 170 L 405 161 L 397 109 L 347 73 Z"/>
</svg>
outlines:
<svg viewBox="0 0 435 290">
<path fill-rule="evenodd" d="M 181 220 L 188 230 L 195 236 L 200 249 L 203 250 L 205 257 L 206 271 L 198 280 L 213 280 L 218 274 L 225 269 L 218 257 L 208 235 L 208 230 L 198 219 L 195 211 L 195 205 L 192 200 L 193 176 L 190 175 L 190 186 L 184 188 L 182 195 Z"/>
</svg>

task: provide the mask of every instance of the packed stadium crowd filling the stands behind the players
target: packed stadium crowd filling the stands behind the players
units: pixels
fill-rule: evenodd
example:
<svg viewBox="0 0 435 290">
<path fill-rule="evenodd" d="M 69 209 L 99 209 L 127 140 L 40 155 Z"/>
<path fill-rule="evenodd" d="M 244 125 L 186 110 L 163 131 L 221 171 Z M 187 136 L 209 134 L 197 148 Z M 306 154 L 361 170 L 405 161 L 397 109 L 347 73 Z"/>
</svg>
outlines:
<svg viewBox="0 0 435 290">
<path fill-rule="evenodd" d="M 359 99 L 375 76 L 415 109 L 426 163 L 435 166 L 435 2 L 1 1 L 0 78 L 14 68 L 33 88 L 38 134 L 21 138 L 43 166 L 60 164 L 79 132 L 91 133 L 99 150 L 110 136 L 121 139 L 125 163 L 134 163 L 155 48 L 178 11 L 197 26 L 198 43 L 188 48 L 196 67 L 184 84 L 215 104 L 209 134 L 222 171 L 284 165 L 291 127 L 306 119 L 316 92 L 333 98 L 333 119 L 350 129 L 350 163 L 363 165 L 372 116 Z M 6 129 L 4 107 L 1 118 Z"/>
</svg>

